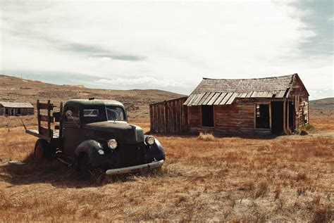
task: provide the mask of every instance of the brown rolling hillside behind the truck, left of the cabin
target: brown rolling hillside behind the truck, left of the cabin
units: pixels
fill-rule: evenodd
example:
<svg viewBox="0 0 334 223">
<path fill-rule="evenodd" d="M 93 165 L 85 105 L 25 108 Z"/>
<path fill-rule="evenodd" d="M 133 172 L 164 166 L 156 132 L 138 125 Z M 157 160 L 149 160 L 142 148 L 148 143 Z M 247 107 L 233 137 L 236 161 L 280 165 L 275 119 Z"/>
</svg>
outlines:
<svg viewBox="0 0 334 223">
<path fill-rule="evenodd" d="M 183 96 L 169 91 L 89 89 L 82 85 L 47 84 L 37 80 L 0 75 L 0 101 L 30 102 L 51 100 L 56 106 L 71 98 L 113 99 L 122 102 L 130 118 L 148 119 L 149 104 Z"/>
</svg>

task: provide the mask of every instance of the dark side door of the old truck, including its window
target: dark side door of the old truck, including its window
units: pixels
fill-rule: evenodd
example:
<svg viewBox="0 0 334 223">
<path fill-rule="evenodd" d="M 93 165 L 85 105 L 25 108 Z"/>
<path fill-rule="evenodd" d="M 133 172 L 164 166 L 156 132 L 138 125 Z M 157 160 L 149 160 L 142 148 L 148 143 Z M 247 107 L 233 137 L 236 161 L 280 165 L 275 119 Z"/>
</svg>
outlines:
<svg viewBox="0 0 334 223">
<path fill-rule="evenodd" d="M 72 115 L 66 116 L 70 110 Z M 68 156 L 74 156 L 77 146 L 85 140 L 85 133 L 80 128 L 80 110 L 78 106 L 68 105 L 63 112 L 63 152 Z"/>
</svg>

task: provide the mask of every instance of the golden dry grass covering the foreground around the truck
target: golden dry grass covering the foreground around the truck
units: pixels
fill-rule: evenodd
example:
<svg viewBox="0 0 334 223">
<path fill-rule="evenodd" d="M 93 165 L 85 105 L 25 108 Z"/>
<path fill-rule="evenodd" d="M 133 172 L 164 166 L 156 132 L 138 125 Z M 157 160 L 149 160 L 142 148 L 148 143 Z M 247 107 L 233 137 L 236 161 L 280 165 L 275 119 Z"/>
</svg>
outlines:
<svg viewBox="0 0 334 223">
<path fill-rule="evenodd" d="M 24 160 L 35 138 L 0 129 L 0 221 L 298 221 L 334 220 L 333 120 L 314 119 L 307 136 L 256 139 L 156 137 L 166 150 L 161 172 L 96 185 L 57 163 Z M 146 120 L 135 124 L 149 130 Z M 332 133 L 331 133 L 332 132 Z"/>
</svg>

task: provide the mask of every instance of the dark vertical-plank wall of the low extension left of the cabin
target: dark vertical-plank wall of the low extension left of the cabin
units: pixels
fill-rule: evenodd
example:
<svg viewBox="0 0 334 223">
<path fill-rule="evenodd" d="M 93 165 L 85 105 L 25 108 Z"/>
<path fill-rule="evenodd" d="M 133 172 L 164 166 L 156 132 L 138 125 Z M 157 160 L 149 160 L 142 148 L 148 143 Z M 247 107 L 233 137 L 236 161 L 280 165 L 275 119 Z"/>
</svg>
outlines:
<svg viewBox="0 0 334 223">
<path fill-rule="evenodd" d="M 179 134 L 188 132 L 187 97 L 154 103 L 149 106 L 151 132 Z"/>
</svg>

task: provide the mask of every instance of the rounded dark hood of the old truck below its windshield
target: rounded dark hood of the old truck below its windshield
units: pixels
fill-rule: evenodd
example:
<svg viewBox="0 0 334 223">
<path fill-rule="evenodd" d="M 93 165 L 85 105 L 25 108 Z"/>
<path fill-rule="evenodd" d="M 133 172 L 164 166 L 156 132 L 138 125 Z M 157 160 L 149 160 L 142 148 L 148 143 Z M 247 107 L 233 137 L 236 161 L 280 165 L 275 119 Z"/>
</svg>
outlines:
<svg viewBox="0 0 334 223">
<path fill-rule="evenodd" d="M 116 141 L 135 144 L 144 141 L 144 132 L 141 127 L 130 125 L 127 122 L 94 122 L 82 126 L 87 136 L 94 139 L 116 139 Z"/>
</svg>

